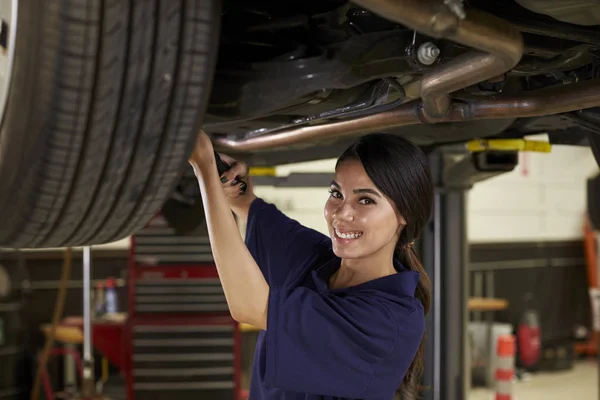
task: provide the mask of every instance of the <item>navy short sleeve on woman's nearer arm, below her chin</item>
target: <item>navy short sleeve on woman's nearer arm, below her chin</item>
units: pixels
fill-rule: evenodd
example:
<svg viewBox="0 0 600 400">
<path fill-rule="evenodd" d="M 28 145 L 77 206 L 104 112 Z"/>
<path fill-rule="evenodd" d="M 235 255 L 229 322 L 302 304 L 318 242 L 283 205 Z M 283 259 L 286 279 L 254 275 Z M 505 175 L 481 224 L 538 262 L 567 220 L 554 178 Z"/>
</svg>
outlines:
<svg viewBox="0 0 600 400">
<path fill-rule="evenodd" d="M 322 396 L 392 398 L 417 352 L 424 316 L 414 299 L 394 304 L 396 311 L 383 301 L 370 292 L 271 288 L 264 384 Z"/>
</svg>

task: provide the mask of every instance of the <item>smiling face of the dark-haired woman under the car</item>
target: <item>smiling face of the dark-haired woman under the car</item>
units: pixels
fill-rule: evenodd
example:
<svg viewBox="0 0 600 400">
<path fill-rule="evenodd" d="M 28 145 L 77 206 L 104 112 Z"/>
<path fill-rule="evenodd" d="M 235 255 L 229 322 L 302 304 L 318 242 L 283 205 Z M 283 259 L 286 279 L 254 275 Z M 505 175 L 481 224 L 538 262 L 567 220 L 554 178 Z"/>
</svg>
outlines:
<svg viewBox="0 0 600 400">
<path fill-rule="evenodd" d="M 391 256 L 406 222 L 361 162 L 340 163 L 330 192 L 324 214 L 335 254 L 343 259 Z"/>
</svg>

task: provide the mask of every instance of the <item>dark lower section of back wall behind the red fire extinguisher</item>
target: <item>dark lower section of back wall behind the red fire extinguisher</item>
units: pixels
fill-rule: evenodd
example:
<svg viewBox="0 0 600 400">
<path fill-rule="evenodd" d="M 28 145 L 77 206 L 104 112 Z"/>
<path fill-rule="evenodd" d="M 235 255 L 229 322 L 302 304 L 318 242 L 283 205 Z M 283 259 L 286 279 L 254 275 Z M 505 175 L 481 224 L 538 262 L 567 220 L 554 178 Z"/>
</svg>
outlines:
<svg viewBox="0 0 600 400">
<path fill-rule="evenodd" d="M 469 260 L 469 293 L 508 301 L 496 321 L 517 324 L 531 295 L 542 342 L 572 338 L 577 327 L 592 328 L 580 240 L 475 243 Z"/>
</svg>

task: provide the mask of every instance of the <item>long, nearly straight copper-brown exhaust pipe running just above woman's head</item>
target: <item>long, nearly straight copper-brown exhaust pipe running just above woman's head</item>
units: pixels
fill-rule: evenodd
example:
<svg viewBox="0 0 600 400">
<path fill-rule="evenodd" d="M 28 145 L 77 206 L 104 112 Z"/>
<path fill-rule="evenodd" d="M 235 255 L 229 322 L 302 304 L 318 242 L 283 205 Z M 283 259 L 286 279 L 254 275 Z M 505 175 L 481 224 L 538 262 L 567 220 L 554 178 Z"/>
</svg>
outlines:
<svg viewBox="0 0 600 400">
<path fill-rule="evenodd" d="M 500 95 L 472 103 L 455 103 L 445 116 L 436 119 L 429 119 L 428 115 L 423 112 L 420 103 L 413 101 L 380 114 L 323 125 L 286 129 L 246 140 L 215 138 L 214 143 L 216 149 L 224 152 L 253 152 L 422 123 L 536 117 L 591 107 L 600 107 L 600 79 L 548 87 L 516 95 Z"/>
</svg>

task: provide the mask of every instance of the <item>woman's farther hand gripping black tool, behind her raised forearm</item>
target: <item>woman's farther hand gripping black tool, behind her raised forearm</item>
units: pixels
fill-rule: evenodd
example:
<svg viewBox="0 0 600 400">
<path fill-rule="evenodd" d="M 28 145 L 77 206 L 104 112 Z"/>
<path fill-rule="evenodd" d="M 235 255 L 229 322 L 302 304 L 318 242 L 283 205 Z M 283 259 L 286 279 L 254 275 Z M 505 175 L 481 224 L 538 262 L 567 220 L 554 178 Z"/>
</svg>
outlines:
<svg viewBox="0 0 600 400">
<path fill-rule="evenodd" d="M 248 216 L 250 204 L 256 198 L 252 179 L 248 174 L 246 163 L 219 153 L 221 159 L 231 166 L 221 175 L 223 192 L 232 211 L 243 219 Z"/>
</svg>

